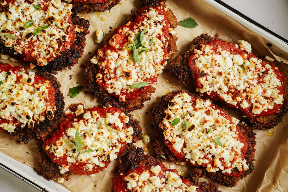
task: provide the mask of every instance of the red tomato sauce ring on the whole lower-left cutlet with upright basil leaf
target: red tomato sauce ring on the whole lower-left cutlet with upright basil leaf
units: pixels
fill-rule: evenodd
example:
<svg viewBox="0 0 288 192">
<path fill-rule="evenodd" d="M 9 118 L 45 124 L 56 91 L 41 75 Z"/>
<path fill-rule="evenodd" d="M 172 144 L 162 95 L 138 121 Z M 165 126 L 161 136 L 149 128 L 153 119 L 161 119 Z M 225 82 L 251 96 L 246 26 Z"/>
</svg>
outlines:
<svg viewBox="0 0 288 192">
<path fill-rule="evenodd" d="M 75 112 L 75 109 L 71 109 L 72 112 Z M 86 109 L 84 108 L 84 113 L 85 113 Z M 110 107 L 110 108 L 99 108 L 99 107 L 93 107 L 92 109 L 87 109 L 87 111 L 89 111 L 90 113 L 92 111 L 97 111 L 97 113 L 101 116 L 101 117 L 106 117 L 106 113 L 115 113 L 118 112 L 119 114 L 122 113 L 122 111 L 120 109 L 117 109 L 115 107 Z M 83 113 L 83 114 L 84 114 Z M 54 153 L 50 153 L 49 150 L 46 150 L 46 146 L 52 146 L 52 144 L 56 141 L 56 140 L 60 140 L 62 138 L 62 136 L 64 136 L 65 133 L 65 128 L 71 128 L 73 127 L 72 123 L 74 122 L 79 122 L 80 120 L 84 120 L 87 121 L 83 118 L 83 114 L 76 116 L 75 113 L 70 113 L 69 115 L 67 115 L 67 117 L 64 119 L 64 121 L 60 124 L 60 129 L 56 130 L 54 132 L 54 134 L 49 138 L 43 141 L 43 149 L 44 151 L 47 153 L 47 155 L 51 158 L 51 160 L 53 161 L 53 163 L 55 163 L 56 165 L 68 165 L 68 161 L 67 161 L 67 155 L 64 153 L 64 155 L 62 157 L 56 157 L 54 155 Z M 123 117 L 119 116 L 121 122 L 123 122 L 123 129 L 127 129 L 126 124 L 125 124 L 125 120 Z M 82 135 L 82 133 L 80 132 L 80 134 Z M 116 155 L 118 155 L 119 153 L 121 153 L 124 148 L 126 147 L 126 143 L 125 142 L 119 142 L 122 147 L 120 148 L 120 151 L 118 153 L 116 153 Z M 105 164 L 104 167 L 100 167 L 100 166 L 94 166 L 92 168 L 92 170 L 87 170 L 85 168 L 86 164 L 88 164 L 88 162 L 84 161 L 84 162 L 75 162 L 71 165 L 69 165 L 69 171 L 72 174 L 75 175 L 91 175 L 91 174 L 95 174 L 98 173 L 99 171 L 104 170 L 105 168 L 107 168 L 107 166 L 109 165 L 111 161 L 102 161 L 102 163 Z"/>
</svg>

